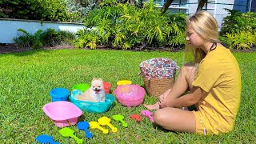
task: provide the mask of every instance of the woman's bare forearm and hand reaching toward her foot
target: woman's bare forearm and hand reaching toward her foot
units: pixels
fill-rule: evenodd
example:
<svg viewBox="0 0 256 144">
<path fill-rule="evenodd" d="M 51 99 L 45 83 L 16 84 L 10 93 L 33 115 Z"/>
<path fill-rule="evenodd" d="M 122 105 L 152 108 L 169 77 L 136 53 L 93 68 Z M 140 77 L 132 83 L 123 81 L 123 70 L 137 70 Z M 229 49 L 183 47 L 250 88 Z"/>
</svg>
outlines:
<svg viewBox="0 0 256 144">
<path fill-rule="evenodd" d="M 199 99 L 202 98 L 202 95 L 205 93 L 206 92 L 202 90 L 200 87 L 193 86 L 189 94 L 183 95 L 182 97 L 179 97 L 176 99 L 169 99 L 167 97 L 165 101 L 160 102 L 159 106 L 161 108 L 163 107 L 181 108 L 185 106 L 191 106 L 191 105 L 194 105 L 196 102 L 198 102 Z"/>
</svg>

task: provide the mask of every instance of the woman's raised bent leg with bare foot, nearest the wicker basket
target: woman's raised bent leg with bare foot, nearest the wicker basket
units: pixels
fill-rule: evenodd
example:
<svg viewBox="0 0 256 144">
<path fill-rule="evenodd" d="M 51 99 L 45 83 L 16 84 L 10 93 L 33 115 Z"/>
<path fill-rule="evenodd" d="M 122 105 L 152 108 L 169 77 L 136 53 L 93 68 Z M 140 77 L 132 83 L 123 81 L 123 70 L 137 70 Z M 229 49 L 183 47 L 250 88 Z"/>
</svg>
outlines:
<svg viewBox="0 0 256 144">
<path fill-rule="evenodd" d="M 180 97 L 184 92 L 190 90 L 192 88 L 192 82 L 194 80 L 194 74 L 196 71 L 196 67 L 192 63 L 186 63 L 182 66 L 182 70 L 180 70 L 178 77 L 174 82 L 174 86 L 171 89 L 166 90 L 164 94 L 160 97 L 168 97 L 169 99 L 175 99 Z M 146 105 L 144 106 L 149 110 L 158 110 L 159 109 L 159 102 L 156 102 L 153 105 Z"/>
</svg>

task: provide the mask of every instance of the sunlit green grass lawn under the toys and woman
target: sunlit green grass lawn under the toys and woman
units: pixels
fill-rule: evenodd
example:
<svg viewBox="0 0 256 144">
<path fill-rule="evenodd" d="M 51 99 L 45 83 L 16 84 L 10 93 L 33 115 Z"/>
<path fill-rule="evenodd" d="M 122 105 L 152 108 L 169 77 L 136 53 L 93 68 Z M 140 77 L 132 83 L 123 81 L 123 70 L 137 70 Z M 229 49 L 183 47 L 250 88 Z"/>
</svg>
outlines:
<svg viewBox="0 0 256 144">
<path fill-rule="evenodd" d="M 129 124 L 123 128 L 114 120 L 118 133 L 102 134 L 91 130 L 91 139 L 84 143 L 251 143 L 256 138 L 256 53 L 234 53 L 242 71 L 242 101 L 234 130 L 230 134 L 202 136 L 174 133 L 154 126 L 149 119 L 137 123 L 130 114 L 140 114 L 143 106 L 126 108 L 115 102 L 104 114 L 84 112 L 87 121 L 97 121 L 102 116 L 124 115 Z M 150 58 L 171 58 L 182 66 L 182 52 L 132 52 L 115 50 L 35 50 L 29 52 L 0 54 L 0 139 L 2 143 L 37 143 L 35 137 L 49 134 L 61 143 L 74 143 L 72 138 L 62 137 L 57 126 L 42 111 L 51 102 L 49 92 L 55 87 L 71 87 L 91 79 L 103 78 L 111 82 L 129 79 L 143 85 L 138 76 L 140 62 Z M 146 103 L 156 100 L 146 95 Z M 78 138 L 85 132 L 70 126 Z"/>
</svg>

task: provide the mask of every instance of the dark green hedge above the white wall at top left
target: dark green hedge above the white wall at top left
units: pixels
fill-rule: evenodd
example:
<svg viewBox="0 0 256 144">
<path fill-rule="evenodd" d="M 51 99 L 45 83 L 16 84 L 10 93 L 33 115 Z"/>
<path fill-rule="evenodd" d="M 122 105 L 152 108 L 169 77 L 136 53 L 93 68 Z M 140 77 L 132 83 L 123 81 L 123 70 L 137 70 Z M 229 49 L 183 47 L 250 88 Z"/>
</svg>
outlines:
<svg viewBox="0 0 256 144">
<path fill-rule="evenodd" d="M 66 0 L 2 0 L 1 18 L 18 18 L 56 22 L 74 22 L 77 13 L 70 13 Z"/>
</svg>

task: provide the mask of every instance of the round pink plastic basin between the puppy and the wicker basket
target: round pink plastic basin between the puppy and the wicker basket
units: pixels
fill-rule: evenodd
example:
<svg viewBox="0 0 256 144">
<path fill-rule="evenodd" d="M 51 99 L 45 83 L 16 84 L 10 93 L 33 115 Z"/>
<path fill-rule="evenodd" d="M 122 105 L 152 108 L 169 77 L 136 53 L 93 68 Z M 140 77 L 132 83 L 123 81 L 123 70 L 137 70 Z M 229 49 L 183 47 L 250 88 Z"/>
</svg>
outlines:
<svg viewBox="0 0 256 144">
<path fill-rule="evenodd" d="M 138 106 L 142 104 L 145 97 L 145 90 L 138 85 L 122 85 L 114 90 L 118 102 L 123 106 Z"/>
</svg>

